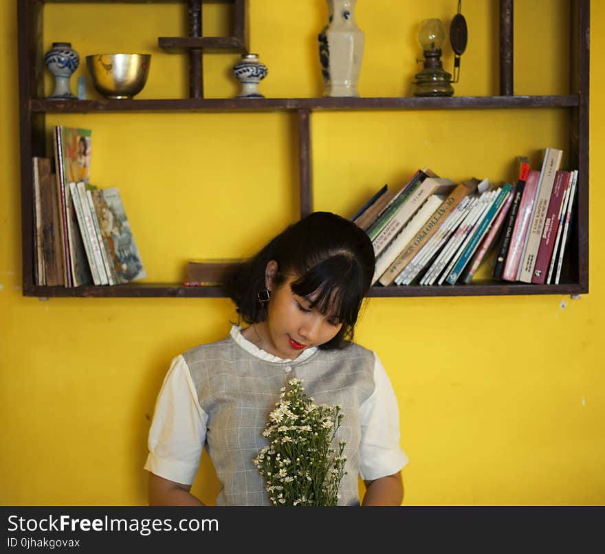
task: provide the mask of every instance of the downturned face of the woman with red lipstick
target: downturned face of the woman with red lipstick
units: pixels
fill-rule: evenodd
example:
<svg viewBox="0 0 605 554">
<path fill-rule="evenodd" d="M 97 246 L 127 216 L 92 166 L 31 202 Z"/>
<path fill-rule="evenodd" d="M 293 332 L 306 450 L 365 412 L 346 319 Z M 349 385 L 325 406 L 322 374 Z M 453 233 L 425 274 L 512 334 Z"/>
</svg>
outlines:
<svg viewBox="0 0 605 554">
<path fill-rule="evenodd" d="M 292 292 L 290 284 L 294 280 L 295 276 L 289 276 L 281 287 L 274 288 L 267 307 L 269 346 L 272 354 L 285 359 L 329 342 L 342 327 L 336 316 L 311 309 L 314 294 L 305 297 Z"/>
</svg>

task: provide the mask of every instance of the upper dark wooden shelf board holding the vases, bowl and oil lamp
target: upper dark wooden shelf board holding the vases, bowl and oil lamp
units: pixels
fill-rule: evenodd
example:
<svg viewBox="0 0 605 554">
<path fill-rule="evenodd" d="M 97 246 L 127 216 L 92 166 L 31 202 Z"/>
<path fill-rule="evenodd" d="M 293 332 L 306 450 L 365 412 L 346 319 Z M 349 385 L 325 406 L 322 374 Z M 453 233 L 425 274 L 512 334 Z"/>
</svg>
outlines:
<svg viewBox="0 0 605 554">
<path fill-rule="evenodd" d="M 91 111 L 296 111 L 473 108 L 569 108 L 580 97 L 459 96 L 450 98 L 184 98 L 159 100 L 30 100 L 32 112 L 87 113 Z"/>
</svg>

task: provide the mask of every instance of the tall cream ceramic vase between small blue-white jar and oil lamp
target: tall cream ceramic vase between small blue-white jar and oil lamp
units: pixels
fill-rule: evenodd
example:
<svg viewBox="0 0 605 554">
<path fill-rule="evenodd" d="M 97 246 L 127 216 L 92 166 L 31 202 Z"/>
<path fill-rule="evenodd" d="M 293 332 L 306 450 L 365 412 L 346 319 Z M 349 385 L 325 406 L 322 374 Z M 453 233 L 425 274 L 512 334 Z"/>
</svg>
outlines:
<svg viewBox="0 0 605 554">
<path fill-rule="evenodd" d="M 364 33 L 355 23 L 357 0 L 326 0 L 330 21 L 318 35 L 324 96 L 359 96 Z"/>
</svg>

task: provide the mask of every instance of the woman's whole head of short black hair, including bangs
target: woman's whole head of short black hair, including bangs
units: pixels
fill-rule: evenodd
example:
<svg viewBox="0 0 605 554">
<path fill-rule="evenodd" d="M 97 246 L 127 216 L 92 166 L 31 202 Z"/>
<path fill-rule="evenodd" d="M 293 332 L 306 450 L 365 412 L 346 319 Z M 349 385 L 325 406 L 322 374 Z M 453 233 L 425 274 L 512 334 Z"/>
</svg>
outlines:
<svg viewBox="0 0 605 554">
<path fill-rule="evenodd" d="M 257 293 L 265 289 L 265 269 L 271 260 L 278 265 L 275 287 L 294 275 L 292 292 L 307 297 L 317 293 L 311 307 L 342 322 L 338 334 L 320 348 L 347 346 L 372 285 L 375 257 L 369 236 L 331 212 L 314 212 L 289 225 L 256 255 L 225 273 L 223 289 L 248 324 L 267 319 Z"/>
</svg>

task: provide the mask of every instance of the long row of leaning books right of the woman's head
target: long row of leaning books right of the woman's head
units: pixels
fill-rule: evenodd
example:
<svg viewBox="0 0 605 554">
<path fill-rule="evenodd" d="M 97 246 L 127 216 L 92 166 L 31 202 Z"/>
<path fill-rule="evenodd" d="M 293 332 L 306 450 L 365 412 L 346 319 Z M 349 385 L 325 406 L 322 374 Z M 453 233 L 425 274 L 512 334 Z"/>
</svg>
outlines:
<svg viewBox="0 0 605 554">
<path fill-rule="evenodd" d="M 372 240 L 373 283 L 469 284 L 492 251 L 496 279 L 558 283 L 577 182 L 561 157 L 547 148 L 540 170 L 522 159 L 516 185 L 423 168 L 395 193 L 383 186 L 351 218 Z"/>
</svg>

